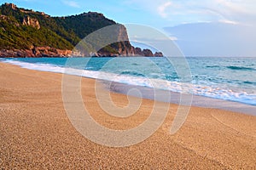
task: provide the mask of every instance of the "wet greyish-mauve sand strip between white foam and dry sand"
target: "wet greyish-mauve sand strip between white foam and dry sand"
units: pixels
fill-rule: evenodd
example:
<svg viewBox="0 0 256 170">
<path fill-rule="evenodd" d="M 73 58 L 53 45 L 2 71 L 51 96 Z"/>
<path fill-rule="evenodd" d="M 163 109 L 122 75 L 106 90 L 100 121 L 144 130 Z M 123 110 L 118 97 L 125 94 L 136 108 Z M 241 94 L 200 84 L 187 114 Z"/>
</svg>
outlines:
<svg viewBox="0 0 256 170">
<path fill-rule="evenodd" d="M 134 86 L 130 84 L 125 84 L 121 82 L 109 82 L 105 80 L 100 80 L 103 84 L 105 84 L 106 89 L 110 90 L 113 93 L 125 94 L 127 95 L 129 89 L 136 88 L 138 89 L 143 96 L 143 99 L 152 99 L 154 100 L 154 89 L 148 87 Z M 160 95 L 165 95 L 166 93 L 171 94 L 171 99 L 160 99 L 160 102 L 167 102 L 170 104 L 179 105 L 180 104 L 180 93 L 160 90 L 157 89 L 157 92 Z M 138 94 L 133 94 L 134 97 L 139 97 Z M 212 109 L 220 109 L 224 111 L 234 111 L 236 113 L 248 114 L 252 116 L 256 116 L 256 106 L 255 105 L 247 105 L 235 101 L 224 100 L 224 99 L 214 99 L 206 96 L 200 96 L 192 94 L 193 99 L 191 106 L 202 107 L 202 108 L 212 108 Z"/>
</svg>

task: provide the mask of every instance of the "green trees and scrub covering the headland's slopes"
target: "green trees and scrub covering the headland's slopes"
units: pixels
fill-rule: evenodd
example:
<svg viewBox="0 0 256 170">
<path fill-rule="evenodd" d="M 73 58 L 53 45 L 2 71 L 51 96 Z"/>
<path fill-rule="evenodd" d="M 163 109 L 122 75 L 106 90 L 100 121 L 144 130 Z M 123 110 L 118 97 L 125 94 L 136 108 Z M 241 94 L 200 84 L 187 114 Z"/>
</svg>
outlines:
<svg viewBox="0 0 256 170">
<path fill-rule="evenodd" d="M 50 17 L 5 3 L 0 7 L 0 49 L 30 49 L 34 46 L 73 49 L 91 32 L 113 24 L 116 24 L 113 20 L 98 13 Z M 130 42 L 125 45 L 131 47 Z M 124 43 L 119 42 L 118 45 L 113 44 L 102 50 L 117 53 L 117 47 L 123 46 Z"/>
</svg>

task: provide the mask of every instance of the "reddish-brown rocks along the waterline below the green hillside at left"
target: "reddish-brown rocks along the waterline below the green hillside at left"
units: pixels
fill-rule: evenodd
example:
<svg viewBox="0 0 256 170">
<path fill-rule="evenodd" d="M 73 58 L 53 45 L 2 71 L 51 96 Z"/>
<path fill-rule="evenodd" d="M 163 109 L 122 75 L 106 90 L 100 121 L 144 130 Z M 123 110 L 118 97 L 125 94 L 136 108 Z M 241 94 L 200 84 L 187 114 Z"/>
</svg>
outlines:
<svg viewBox="0 0 256 170">
<path fill-rule="evenodd" d="M 26 57 L 70 57 L 71 50 L 62 50 L 50 47 L 32 47 L 31 49 L 2 49 L 0 57 L 26 58 Z"/>
</svg>

